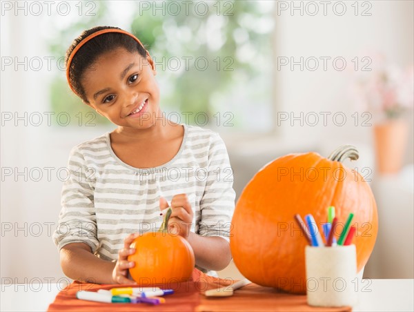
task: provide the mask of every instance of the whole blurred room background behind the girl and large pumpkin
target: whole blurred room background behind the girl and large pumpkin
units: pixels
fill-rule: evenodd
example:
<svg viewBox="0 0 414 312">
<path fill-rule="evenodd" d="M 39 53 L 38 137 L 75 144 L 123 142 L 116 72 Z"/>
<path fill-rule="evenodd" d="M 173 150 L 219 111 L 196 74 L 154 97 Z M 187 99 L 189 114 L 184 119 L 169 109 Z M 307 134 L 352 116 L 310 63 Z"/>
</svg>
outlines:
<svg viewBox="0 0 414 312">
<path fill-rule="evenodd" d="M 66 49 L 93 26 L 141 39 L 167 117 L 226 142 L 237 198 L 279 156 L 357 146 L 346 165 L 380 220 L 364 275 L 414 277 L 413 1 L 2 1 L 0 26 L 2 283 L 64 277 L 51 235 L 69 151 L 115 128 L 66 83 Z"/>
</svg>

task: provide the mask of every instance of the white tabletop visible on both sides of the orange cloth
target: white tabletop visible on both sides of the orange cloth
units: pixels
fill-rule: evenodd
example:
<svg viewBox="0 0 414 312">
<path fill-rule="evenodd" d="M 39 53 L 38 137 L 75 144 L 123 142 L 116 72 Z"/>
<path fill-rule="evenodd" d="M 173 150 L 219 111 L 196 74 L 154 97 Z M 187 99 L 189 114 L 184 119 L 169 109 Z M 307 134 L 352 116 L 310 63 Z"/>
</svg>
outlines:
<svg viewBox="0 0 414 312">
<path fill-rule="evenodd" d="M 364 280 L 353 311 L 414 311 L 414 280 Z M 1 284 L 1 311 L 46 311 L 66 285 Z M 364 289 L 365 287 L 365 289 Z"/>
</svg>

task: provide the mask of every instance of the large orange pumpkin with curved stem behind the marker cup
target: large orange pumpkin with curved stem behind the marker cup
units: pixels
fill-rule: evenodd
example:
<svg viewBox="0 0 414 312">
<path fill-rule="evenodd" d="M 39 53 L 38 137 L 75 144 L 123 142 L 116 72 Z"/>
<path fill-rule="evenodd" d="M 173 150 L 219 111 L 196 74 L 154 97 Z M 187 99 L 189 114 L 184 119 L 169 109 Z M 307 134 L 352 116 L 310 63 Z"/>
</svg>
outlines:
<svg viewBox="0 0 414 312">
<path fill-rule="evenodd" d="M 337 235 L 348 214 L 355 214 L 357 270 L 366 264 L 377 237 L 377 206 L 363 177 L 342 165 L 346 157 L 357 159 L 357 150 L 342 146 L 328 159 L 317 153 L 286 155 L 250 180 L 236 204 L 230 231 L 235 265 L 248 280 L 305 293 L 307 242 L 293 216 L 313 214 L 321 231 L 328 206 L 335 206 Z"/>
</svg>

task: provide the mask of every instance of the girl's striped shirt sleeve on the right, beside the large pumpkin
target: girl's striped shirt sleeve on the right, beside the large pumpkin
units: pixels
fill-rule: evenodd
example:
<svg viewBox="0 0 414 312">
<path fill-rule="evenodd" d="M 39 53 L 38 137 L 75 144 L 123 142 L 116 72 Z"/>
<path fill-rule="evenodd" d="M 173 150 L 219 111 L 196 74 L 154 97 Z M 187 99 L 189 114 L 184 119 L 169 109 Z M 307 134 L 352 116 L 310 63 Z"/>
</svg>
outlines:
<svg viewBox="0 0 414 312">
<path fill-rule="evenodd" d="M 206 187 L 200 201 L 199 235 L 220 236 L 230 242 L 236 193 L 226 145 L 217 133 L 210 144 L 207 172 Z"/>
</svg>

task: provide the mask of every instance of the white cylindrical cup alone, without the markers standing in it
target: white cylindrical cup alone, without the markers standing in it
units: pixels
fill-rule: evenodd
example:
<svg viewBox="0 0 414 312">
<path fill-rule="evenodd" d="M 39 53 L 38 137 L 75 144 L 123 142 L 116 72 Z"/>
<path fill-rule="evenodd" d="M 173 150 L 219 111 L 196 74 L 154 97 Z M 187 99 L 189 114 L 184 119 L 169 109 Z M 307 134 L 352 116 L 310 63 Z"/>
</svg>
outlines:
<svg viewBox="0 0 414 312">
<path fill-rule="evenodd" d="M 357 302 L 355 245 L 306 246 L 306 294 L 311 306 L 354 306 Z"/>
</svg>

